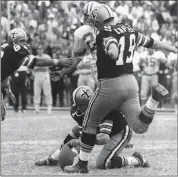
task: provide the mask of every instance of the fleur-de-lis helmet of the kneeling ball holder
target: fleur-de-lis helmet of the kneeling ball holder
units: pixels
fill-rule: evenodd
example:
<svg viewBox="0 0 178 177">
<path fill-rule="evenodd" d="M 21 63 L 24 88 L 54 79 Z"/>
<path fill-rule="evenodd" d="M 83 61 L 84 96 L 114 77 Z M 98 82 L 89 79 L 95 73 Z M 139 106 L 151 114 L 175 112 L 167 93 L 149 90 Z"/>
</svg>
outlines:
<svg viewBox="0 0 178 177">
<path fill-rule="evenodd" d="M 85 85 L 76 88 L 72 94 L 73 102 L 76 106 L 87 105 L 90 97 L 93 94 L 93 90 Z"/>
</svg>

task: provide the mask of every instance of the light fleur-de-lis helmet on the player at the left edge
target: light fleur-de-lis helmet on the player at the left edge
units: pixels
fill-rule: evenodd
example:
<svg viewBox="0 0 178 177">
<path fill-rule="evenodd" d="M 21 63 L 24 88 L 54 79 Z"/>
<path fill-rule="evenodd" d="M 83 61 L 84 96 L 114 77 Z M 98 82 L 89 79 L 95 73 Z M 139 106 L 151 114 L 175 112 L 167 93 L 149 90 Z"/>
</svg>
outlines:
<svg viewBox="0 0 178 177">
<path fill-rule="evenodd" d="M 9 42 L 15 44 L 26 44 L 27 41 L 27 34 L 24 30 L 20 28 L 14 28 L 9 32 Z"/>
</svg>

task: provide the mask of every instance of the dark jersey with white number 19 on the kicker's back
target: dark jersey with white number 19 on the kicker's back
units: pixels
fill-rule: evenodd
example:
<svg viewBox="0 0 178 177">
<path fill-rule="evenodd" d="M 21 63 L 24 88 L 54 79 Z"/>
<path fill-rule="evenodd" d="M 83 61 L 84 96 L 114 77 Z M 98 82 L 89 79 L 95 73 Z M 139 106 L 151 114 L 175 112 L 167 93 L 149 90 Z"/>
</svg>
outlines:
<svg viewBox="0 0 178 177">
<path fill-rule="evenodd" d="M 118 41 L 119 53 L 116 60 L 105 52 L 105 38 L 113 37 Z M 114 78 L 122 74 L 133 73 L 133 55 L 136 46 L 149 47 L 151 38 L 135 31 L 129 25 L 104 26 L 96 37 L 98 79 Z"/>
</svg>

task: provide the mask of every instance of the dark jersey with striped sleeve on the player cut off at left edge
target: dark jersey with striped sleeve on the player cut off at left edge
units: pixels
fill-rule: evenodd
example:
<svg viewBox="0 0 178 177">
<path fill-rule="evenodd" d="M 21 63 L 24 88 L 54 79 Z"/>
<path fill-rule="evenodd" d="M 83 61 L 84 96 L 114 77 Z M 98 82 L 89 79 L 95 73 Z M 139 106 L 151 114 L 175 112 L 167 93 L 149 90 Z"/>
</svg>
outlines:
<svg viewBox="0 0 178 177">
<path fill-rule="evenodd" d="M 28 49 L 17 44 L 1 46 L 1 82 L 11 76 L 21 65 L 33 68 L 36 59 L 29 57 Z"/>
</svg>

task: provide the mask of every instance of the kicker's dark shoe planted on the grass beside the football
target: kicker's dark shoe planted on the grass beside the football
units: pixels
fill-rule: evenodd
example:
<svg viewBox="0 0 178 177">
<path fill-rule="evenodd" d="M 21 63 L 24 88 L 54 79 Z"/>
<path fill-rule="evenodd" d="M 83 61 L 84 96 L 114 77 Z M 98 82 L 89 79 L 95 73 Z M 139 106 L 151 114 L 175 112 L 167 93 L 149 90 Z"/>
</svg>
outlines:
<svg viewBox="0 0 178 177">
<path fill-rule="evenodd" d="M 88 173 L 89 169 L 87 165 L 84 165 L 78 161 L 78 163 L 73 166 L 66 166 L 64 171 L 66 173 Z"/>
</svg>

